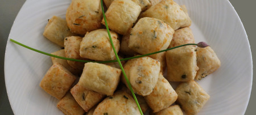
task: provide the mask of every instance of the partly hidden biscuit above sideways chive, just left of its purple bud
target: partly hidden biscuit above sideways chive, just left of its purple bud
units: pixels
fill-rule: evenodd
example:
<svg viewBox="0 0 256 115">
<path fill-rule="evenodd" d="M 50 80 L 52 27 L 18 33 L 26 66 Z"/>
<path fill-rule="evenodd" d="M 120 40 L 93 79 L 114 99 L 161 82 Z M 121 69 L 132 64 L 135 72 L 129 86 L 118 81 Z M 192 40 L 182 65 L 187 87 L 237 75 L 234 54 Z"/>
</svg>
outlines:
<svg viewBox="0 0 256 115">
<path fill-rule="evenodd" d="M 174 32 L 174 37 L 172 37 L 171 44 L 168 48 L 173 48 L 183 44 L 195 44 L 192 30 L 189 27 L 177 29 Z"/>
</svg>

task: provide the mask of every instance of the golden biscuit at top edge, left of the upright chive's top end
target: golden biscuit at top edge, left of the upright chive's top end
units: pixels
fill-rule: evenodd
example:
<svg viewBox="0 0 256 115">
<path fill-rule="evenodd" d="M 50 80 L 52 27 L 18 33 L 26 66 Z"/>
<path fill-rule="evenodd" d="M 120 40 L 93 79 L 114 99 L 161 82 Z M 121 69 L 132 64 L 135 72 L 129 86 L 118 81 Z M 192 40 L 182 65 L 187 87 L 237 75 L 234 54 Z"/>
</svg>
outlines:
<svg viewBox="0 0 256 115">
<path fill-rule="evenodd" d="M 66 20 L 71 32 L 84 35 L 101 28 L 100 0 L 73 0 L 66 13 Z"/>
</svg>

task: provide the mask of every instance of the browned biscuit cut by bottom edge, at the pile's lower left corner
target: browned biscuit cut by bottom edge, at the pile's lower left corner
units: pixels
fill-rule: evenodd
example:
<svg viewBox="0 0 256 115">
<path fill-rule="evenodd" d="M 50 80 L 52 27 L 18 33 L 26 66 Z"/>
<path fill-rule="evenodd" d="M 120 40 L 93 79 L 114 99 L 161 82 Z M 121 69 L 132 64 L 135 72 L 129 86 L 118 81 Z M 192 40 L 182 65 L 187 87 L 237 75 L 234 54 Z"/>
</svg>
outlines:
<svg viewBox="0 0 256 115">
<path fill-rule="evenodd" d="M 68 92 L 63 99 L 59 101 L 57 104 L 57 108 L 59 108 L 64 114 L 72 115 L 82 115 L 85 113 L 84 109 L 80 107 L 79 104 L 77 104 L 74 97 L 71 95 L 70 92 Z"/>
</svg>

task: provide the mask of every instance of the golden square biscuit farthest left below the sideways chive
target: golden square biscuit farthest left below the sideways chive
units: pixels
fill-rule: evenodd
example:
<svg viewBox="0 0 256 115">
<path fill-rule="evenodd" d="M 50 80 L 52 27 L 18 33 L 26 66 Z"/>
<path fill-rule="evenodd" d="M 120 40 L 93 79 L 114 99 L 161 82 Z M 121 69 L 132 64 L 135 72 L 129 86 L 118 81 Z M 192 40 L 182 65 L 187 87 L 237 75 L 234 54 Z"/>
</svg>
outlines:
<svg viewBox="0 0 256 115">
<path fill-rule="evenodd" d="M 76 76 L 61 66 L 53 64 L 40 83 L 40 87 L 57 99 L 61 99 L 75 82 Z"/>
</svg>

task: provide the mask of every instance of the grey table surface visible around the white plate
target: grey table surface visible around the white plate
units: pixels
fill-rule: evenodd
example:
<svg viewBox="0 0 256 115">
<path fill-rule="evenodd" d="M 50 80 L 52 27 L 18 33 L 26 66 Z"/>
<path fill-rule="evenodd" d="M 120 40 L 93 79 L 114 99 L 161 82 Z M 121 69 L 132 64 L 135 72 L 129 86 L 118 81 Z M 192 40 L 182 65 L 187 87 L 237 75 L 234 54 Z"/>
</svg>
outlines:
<svg viewBox="0 0 256 115">
<path fill-rule="evenodd" d="M 0 0 L 0 114 L 14 114 L 11 110 L 10 103 L 6 93 L 5 87 L 5 75 L 4 75 L 4 58 L 5 58 L 5 46 L 8 39 L 11 26 L 13 25 L 14 19 L 18 14 L 20 8 L 26 0 Z M 240 16 L 243 25 L 251 45 L 251 53 L 253 54 L 253 62 L 256 62 L 256 15 L 255 15 L 255 3 L 256 1 L 251 0 L 229 0 L 238 15 Z M 254 69 L 255 72 L 255 69 Z M 255 75 L 253 75 L 255 76 Z M 253 88 L 251 91 L 251 97 L 249 105 L 245 114 L 256 113 L 256 80 L 253 80 Z M 242 86 L 241 86 L 242 87 Z M 234 108 L 236 109 L 236 108 Z"/>
</svg>

